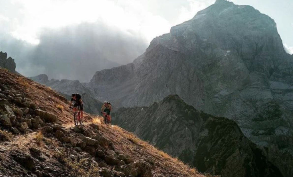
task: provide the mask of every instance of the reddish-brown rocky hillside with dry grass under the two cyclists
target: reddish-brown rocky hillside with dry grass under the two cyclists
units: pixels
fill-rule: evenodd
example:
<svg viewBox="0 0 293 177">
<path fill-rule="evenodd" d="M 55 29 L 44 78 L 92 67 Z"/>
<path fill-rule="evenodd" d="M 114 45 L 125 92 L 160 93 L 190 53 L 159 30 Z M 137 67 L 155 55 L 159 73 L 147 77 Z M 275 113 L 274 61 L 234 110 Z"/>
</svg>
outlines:
<svg viewBox="0 0 293 177">
<path fill-rule="evenodd" d="M 68 104 L 0 68 L 0 176 L 205 176 L 99 118 L 73 126 Z"/>
</svg>

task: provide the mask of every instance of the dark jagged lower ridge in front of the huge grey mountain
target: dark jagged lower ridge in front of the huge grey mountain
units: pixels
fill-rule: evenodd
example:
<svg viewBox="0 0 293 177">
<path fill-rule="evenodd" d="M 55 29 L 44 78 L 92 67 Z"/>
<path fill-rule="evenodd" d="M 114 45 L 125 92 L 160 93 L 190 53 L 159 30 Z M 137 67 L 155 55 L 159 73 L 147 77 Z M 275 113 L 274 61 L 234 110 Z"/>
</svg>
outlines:
<svg viewBox="0 0 293 177">
<path fill-rule="evenodd" d="M 178 95 L 149 107 L 120 108 L 113 122 L 201 172 L 282 176 L 234 121 L 197 111 Z"/>
</svg>

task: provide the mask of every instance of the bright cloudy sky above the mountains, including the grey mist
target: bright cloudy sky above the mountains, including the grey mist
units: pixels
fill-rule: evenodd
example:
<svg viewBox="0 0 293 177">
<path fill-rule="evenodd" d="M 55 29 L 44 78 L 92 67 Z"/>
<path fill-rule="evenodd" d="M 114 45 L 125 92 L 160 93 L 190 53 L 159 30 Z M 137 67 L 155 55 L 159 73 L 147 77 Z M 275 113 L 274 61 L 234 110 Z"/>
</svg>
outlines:
<svg viewBox="0 0 293 177">
<path fill-rule="evenodd" d="M 132 62 L 153 38 L 214 1 L 1 0 L 0 50 L 25 76 L 86 82 L 98 70 Z M 293 53 L 293 0 L 231 1 L 272 17 Z"/>
</svg>

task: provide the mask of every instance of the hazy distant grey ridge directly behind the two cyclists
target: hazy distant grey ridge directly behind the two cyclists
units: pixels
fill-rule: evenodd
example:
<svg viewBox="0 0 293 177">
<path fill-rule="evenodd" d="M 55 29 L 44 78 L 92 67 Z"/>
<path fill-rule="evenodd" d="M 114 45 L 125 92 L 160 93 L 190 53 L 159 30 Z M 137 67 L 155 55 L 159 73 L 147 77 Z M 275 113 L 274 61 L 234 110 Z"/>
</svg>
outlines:
<svg viewBox="0 0 293 177">
<path fill-rule="evenodd" d="M 85 87 L 78 80 L 56 80 L 48 79 L 48 76 L 45 74 L 40 74 L 38 76 L 30 77 L 30 79 L 35 82 L 44 84 L 48 87 L 51 87 L 54 90 L 57 90 L 59 93 L 63 94 L 67 99 L 71 99 L 70 95 L 72 93 L 79 93 L 82 96 L 84 101 L 84 110 L 91 114 L 100 113 L 100 108 L 103 103 L 95 99 L 93 92 L 87 87 Z"/>
</svg>

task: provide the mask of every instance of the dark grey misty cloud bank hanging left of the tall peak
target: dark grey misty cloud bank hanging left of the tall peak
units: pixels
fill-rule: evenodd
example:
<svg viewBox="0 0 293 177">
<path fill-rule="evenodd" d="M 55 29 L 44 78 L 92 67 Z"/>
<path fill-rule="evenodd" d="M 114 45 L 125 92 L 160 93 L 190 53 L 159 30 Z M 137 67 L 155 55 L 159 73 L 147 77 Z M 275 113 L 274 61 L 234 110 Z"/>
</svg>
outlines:
<svg viewBox="0 0 293 177">
<path fill-rule="evenodd" d="M 2 38 L 0 49 L 15 59 L 16 70 L 25 76 L 45 73 L 88 82 L 96 71 L 132 62 L 147 46 L 141 34 L 97 22 L 43 29 L 38 45 Z"/>
</svg>

